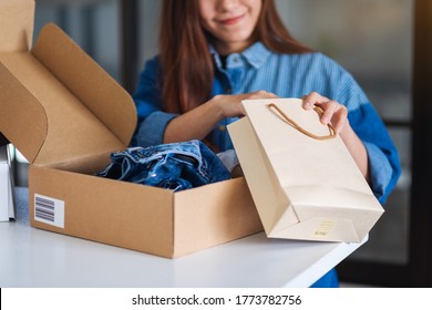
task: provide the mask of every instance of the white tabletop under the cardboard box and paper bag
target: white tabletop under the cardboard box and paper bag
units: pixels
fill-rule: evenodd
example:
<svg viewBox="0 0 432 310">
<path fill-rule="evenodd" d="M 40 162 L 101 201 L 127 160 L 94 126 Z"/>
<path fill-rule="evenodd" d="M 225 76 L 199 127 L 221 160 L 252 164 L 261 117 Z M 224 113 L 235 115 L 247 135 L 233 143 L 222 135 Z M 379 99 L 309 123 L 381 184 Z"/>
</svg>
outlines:
<svg viewBox="0 0 432 310">
<path fill-rule="evenodd" d="M 28 192 L 0 223 L 0 287 L 309 287 L 361 244 L 267 239 L 264 232 L 166 259 L 35 229 Z M 366 240 L 363 240 L 364 242 Z"/>
</svg>

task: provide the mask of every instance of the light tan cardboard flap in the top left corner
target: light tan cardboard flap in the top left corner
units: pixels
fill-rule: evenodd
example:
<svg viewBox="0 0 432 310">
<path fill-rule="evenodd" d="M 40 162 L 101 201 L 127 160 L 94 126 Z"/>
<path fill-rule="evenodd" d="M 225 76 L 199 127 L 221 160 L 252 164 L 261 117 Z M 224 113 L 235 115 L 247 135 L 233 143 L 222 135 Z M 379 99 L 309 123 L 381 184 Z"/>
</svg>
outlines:
<svg viewBox="0 0 432 310">
<path fill-rule="evenodd" d="M 0 0 L 0 54 L 29 51 L 33 38 L 34 1 Z"/>
</svg>

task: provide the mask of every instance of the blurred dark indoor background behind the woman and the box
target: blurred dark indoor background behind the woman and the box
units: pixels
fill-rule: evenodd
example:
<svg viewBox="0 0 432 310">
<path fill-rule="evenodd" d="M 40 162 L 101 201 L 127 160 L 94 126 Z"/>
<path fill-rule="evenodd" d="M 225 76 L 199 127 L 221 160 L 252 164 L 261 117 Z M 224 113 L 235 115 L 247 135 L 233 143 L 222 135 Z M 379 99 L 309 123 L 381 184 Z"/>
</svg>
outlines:
<svg viewBox="0 0 432 310">
<path fill-rule="evenodd" d="M 37 0 L 34 38 L 60 25 L 130 93 L 157 53 L 161 1 Z M 402 176 L 369 241 L 338 266 L 342 281 L 384 287 L 432 286 L 429 163 L 432 1 L 277 0 L 295 38 L 352 73 L 384 120 Z M 429 39 L 429 41 L 428 41 Z M 16 151 L 16 183 L 27 161 Z"/>
</svg>

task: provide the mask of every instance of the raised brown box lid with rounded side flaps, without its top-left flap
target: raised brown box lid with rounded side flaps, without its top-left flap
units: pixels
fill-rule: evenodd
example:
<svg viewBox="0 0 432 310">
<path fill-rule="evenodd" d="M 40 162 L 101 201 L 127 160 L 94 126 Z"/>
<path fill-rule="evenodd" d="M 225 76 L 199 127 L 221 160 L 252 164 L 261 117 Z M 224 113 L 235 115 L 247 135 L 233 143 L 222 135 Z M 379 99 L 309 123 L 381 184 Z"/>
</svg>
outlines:
<svg viewBox="0 0 432 310">
<path fill-rule="evenodd" d="M 56 25 L 30 52 L 0 53 L 0 132 L 30 163 L 123 149 L 135 126 L 132 97 Z"/>
</svg>

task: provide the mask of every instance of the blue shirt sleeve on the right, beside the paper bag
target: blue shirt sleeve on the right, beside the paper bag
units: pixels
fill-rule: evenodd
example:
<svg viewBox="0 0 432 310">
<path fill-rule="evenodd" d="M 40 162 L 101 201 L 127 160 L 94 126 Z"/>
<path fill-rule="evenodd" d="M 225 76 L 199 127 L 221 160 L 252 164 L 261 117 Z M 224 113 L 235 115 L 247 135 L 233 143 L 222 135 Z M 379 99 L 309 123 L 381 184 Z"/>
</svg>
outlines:
<svg viewBox="0 0 432 310">
<path fill-rule="evenodd" d="M 398 151 L 373 105 L 354 79 L 343 70 L 338 97 L 335 99 L 348 107 L 350 125 L 368 153 L 372 192 L 383 204 L 401 174 Z"/>
</svg>

